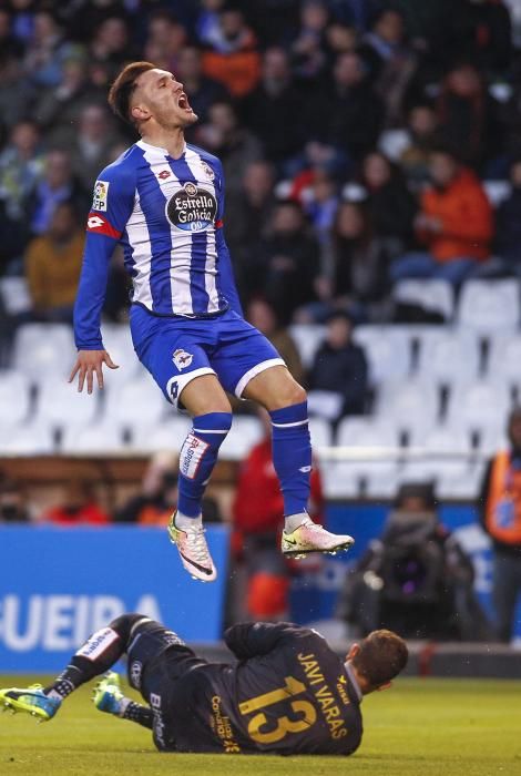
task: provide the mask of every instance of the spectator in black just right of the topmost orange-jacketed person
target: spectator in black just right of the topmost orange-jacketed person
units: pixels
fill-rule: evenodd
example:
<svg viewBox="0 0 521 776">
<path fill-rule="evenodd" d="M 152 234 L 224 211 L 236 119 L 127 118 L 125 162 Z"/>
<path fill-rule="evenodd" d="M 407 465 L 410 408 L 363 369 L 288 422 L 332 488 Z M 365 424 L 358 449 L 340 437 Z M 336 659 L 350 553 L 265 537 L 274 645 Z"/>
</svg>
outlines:
<svg viewBox="0 0 521 776">
<path fill-rule="evenodd" d="M 288 54 L 282 48 L 267 49 L 263 54 L 260 81 L 245 98 L 242 112 L 246 126 L 262 141 L 266 157 L 276 165 L 302 151 L 305 140 L 303 108 L 303 94 L 295 82 Z"/>
</svg>

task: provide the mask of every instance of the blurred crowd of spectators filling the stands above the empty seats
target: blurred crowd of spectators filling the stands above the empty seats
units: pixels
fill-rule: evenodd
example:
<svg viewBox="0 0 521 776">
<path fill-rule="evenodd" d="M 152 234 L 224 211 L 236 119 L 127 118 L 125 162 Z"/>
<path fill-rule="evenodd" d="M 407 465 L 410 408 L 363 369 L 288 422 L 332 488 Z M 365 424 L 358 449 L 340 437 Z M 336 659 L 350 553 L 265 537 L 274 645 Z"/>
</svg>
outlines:
<svg viewBox="0 0 521 776">
<path fill-rule="evenodd" d="M 182 80 L 188 140 L 223 160 L 245 304 L 381 323 L 401 278 L 518 276 L 518 4 L 0 2 L 0 274 L 27 278 L 25 317 L 70 320 L 93 182 L 135 140 L 108 86 L 141 58 Z M 105 313 L 126 307 L 116 256 Z"/>
</svg>

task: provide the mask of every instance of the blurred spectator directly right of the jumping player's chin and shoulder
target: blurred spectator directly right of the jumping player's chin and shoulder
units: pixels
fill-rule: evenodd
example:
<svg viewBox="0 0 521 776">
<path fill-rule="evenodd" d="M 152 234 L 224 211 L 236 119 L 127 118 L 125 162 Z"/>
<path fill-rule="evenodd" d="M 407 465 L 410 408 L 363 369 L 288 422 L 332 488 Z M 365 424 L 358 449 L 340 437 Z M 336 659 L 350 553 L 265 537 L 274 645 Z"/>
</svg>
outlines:
<svg viewBox="0 0 521 776">
<path fill-rule="evenodd" d="M 241 188 L 246 165 L 262 157 L 259 141 L 241 124 L 237 110 L 228 100 L 210 106 L 208 121 L 197 127 L 195 140 L 221 159 L 231 194 Z"/>
</svg>

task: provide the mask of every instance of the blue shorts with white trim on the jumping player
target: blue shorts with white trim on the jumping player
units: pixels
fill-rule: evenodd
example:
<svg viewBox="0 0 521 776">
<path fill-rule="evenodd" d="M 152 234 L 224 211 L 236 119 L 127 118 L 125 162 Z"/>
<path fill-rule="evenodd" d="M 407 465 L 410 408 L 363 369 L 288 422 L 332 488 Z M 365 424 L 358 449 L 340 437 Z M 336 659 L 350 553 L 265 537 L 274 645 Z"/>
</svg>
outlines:
<svg viewBox="0 0 521 776">
<path fill-rule="evenodd" d="M 140 361 L 175 408 L 182 390 L 201 375 L 216 375 L 241 398 L 256 375 L 285 366 L 272 343 L 233 310 L 213 318 L 165 318 L 133 305 L 130 324 Z"/>
</svg>

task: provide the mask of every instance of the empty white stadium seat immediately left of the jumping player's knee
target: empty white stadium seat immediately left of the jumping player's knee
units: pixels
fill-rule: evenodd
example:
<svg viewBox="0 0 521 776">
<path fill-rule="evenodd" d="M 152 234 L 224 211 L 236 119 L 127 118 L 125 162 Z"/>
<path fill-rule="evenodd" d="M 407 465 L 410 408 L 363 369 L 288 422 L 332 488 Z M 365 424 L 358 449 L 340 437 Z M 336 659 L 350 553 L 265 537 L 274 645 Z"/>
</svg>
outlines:
<svg viewBox="0 0 521 776">
<path fill-rule="evenodd" d="M 136 376 L 122 386 L 105 381 L 104 416 L 114 422 L 132 426 L 154 426 L 163 415 L 173 411 L 165 397 L 147 374 Z"/>
</svg>

